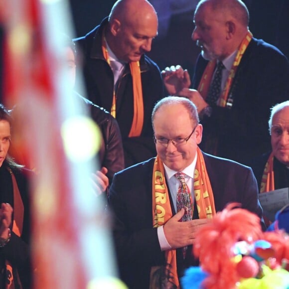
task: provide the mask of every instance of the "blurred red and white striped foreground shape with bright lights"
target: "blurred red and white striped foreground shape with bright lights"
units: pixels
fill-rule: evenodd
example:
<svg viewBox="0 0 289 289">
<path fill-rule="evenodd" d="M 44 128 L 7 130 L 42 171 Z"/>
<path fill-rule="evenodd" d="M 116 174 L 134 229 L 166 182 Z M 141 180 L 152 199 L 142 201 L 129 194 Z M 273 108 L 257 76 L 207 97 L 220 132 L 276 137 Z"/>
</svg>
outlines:
<svg viewBox="0 0 289 289">
<path fill-rule="evenodd" d="M 61 32 L 64 0 L 4 1 L 5 100 L 13 128 L 39 170 L 32 179 L 34 288 L 124 288 L 117 280 L 104 204 L 88 181 L 98 128 L 70 97 Z"/>
</svg>

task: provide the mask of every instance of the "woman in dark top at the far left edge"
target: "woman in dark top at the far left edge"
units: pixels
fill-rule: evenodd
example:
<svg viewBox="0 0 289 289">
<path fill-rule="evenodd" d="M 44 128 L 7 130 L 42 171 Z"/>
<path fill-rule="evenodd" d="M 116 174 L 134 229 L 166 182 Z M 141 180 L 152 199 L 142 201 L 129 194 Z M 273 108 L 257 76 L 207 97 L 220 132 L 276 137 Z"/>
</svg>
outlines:
<svg viewBox="0 0 289 289">
<path fill-rule="evenodd" d="M 0 104 L 0 288 L 30 288 L 29 198 L 27 174 L 7 154 L 9 111 Z"/>
</svg>

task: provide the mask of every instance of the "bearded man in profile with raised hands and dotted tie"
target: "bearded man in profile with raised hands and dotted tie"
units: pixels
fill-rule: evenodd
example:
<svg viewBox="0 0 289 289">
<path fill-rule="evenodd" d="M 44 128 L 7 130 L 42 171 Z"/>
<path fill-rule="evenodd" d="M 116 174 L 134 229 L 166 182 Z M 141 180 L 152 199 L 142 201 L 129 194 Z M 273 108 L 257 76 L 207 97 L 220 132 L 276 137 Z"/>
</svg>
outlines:
<svg viewBox="0 0 289 289">
<path fill-rule="evenodd" d="M 166 88 L 197 106 L 205 152 L 248 163 L 270 149 L 266 124 L 270 108 L 288 96 L 288 60 L 278 48 L 252 37 L 241 0 L 201 0 L 194 23 L 192 39 L 202 49 L 194 89 L 181 67 L 163 72 Z"/>
</svg>

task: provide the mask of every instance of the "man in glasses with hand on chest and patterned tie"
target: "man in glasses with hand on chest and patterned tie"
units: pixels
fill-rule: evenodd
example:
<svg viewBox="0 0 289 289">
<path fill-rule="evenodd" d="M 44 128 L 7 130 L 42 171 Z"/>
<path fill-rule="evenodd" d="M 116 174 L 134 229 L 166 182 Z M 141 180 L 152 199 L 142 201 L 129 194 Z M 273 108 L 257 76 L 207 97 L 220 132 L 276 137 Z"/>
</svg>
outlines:
<svg viewBox="0 0 289 289">
<path fill-rule="evenodd" d="M 116 173 L 109 193 L 120 275 L 130 289 L 179 288 L 184 268 L 195 264 L 198 229 L 227 203 L 262 216 L 251 168 L 198 148 L 203 130 L 190 100 L 160 100 L 152 126 L 156 158 Z"/>
</svg>

